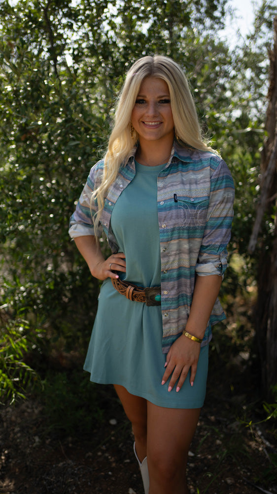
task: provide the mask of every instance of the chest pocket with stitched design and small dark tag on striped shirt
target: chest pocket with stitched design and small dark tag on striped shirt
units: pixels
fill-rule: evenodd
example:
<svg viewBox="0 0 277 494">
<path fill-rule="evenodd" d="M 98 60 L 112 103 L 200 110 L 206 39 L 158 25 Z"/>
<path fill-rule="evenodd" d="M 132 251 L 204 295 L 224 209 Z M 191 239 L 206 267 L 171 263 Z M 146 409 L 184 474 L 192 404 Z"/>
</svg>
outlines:
<svg viewBox="0 0 277 494">
<path fill-rule="evenodd" d="M 175 222 L 186 228 L 204 227 L 208 211 L 208 198 L 179 197 L 174 194 Z"/>
</svg>

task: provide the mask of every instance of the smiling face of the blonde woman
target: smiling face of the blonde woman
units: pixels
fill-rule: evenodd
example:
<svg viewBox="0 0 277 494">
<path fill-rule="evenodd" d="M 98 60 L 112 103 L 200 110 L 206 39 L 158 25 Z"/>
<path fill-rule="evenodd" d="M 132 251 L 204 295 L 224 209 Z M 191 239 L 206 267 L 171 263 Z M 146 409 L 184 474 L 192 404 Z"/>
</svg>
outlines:
<svg viewBox="0 0 277 494">
<path fill-rule="evenodd" d="M 168 85 L 163 79 L 146 77 L 139 88 L 131 114 L 140 146 L 149 141 L 168 141 L 172 146 L 174 122 Z"/>
</svg>

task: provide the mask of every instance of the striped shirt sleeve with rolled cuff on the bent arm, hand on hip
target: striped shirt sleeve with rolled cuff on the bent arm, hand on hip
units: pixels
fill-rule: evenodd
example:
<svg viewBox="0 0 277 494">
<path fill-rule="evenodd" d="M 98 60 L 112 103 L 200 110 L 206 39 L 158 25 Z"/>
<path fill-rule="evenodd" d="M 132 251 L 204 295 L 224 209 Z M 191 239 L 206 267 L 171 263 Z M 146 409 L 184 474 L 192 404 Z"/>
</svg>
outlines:
<svg viewBox="0 0 277 494">
<path fill-rule="evenodd" d="M 96 165 L 95 165 L 96 166 Z M 97 235 L 100 237 L 103 233 L 99 224 L 95 232 L 93 224 L 93 215 L 97 212 L 97 201 L 92 199 L 92 193 L 95 187 L 95 166 L 91 169 L 87 182 L 80 195 L 76 209 L 69 221 L 69 236 L 71 239 L 82 237 L 84 235 Z"/>
</svg>

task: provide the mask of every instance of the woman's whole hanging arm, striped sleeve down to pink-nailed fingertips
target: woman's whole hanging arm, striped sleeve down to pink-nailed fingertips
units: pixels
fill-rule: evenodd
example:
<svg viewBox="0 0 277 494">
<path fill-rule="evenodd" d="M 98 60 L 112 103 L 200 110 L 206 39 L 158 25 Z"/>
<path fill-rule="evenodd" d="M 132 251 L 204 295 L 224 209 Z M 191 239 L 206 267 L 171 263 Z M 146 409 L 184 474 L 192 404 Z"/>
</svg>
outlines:
<svg viewBox="0 0 277 494">
<path fill-rule="evenodd" d="M 195 267 L 196 281 L 186 330 L 203 338 L 208 320 L 217 298 L 222 276 L 227 267 L 227 244 L 231 236 L 233 218 L 234 183 L 226 163 L 218 158 L 211 160 L 210 197 L 205 232 Z M 181 335 L 167 355 L 162 384 L 172 374 L 169 390 L 178 380 L 181 388 L 191 368 L 193 385 L 200 354 L 200 343 Z"/>
</svg>

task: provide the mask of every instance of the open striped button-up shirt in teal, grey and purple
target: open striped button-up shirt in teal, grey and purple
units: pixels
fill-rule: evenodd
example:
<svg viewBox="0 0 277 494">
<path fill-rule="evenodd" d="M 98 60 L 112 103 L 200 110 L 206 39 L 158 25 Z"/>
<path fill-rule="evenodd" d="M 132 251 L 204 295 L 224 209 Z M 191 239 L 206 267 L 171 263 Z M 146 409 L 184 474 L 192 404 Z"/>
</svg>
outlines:
<svg viewBox="0 0 277 494">
<path fill-rule="evenodd" d="M 113 253 L 118 251 L 110 226 L 113 206 L 136 173 L 134 148 L 108 190 L 98 236 L 103 231 Z M 100 185 L 104 161 L 94 165 L 70 218 L 71 238 L 95 235 L 92 191 Z M 185 328 L 195 276 L 224 275 L 233 219 L 234 183 L 226 163 L 217 155 L 174 142 L 171 157 L 157 178 L 161 252 L 163 352 Z M 129 280 L 132 282 L 133 280 Z M 211 326 L 225 319 L 217 298 L 202 346 L 211 339 Z"/>
</svg>

